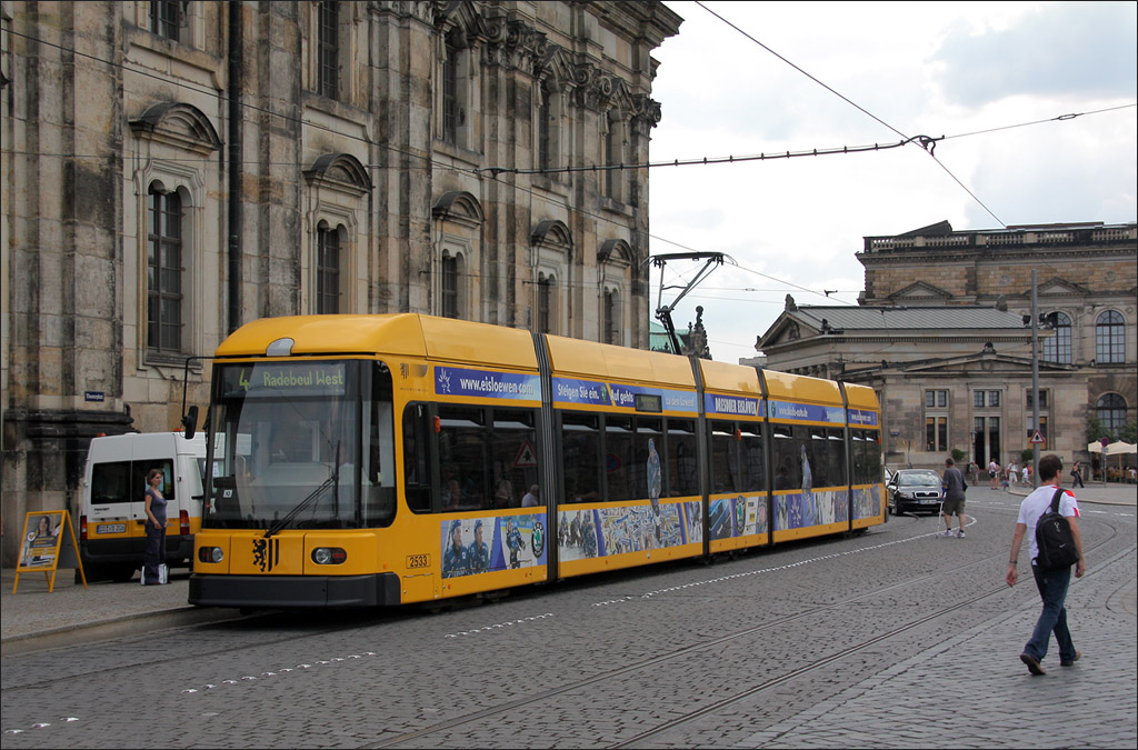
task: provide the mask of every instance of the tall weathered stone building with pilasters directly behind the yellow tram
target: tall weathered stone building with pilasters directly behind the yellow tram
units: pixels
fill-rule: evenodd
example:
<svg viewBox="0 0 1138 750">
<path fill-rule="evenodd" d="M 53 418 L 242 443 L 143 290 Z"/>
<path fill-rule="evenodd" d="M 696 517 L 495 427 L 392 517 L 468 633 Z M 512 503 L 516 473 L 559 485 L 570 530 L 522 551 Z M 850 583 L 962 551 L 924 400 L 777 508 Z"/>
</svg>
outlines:
<svg viewBox="0 0 1138 750">
<path fill-rule="evenodd" d="M 0 2 L 3 562 L 263 316 L 649 346 L 660 2 Z M 601 168 L 597 168 L 601 167 Z M 200 357 L 200 358 L 195 358 Z M 183 392 L 183 373 L 188 388 Z"/>
</svg>

